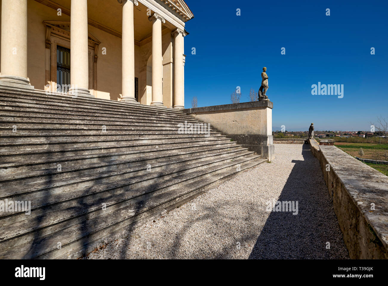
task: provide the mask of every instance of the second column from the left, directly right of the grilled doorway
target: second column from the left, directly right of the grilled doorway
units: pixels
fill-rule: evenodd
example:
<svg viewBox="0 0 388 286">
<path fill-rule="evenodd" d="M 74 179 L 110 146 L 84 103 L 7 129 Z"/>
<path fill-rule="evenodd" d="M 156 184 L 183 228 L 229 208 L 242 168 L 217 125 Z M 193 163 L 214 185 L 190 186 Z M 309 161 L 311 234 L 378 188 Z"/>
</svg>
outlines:
<svg viewBox="0 0 388 286">
<path fill-rule="evenodd" d="M 70 84 L 68 93 L 94 97 L 89 92 L 88 5 L 72 0 L 70 7 Z"/>
</svg>

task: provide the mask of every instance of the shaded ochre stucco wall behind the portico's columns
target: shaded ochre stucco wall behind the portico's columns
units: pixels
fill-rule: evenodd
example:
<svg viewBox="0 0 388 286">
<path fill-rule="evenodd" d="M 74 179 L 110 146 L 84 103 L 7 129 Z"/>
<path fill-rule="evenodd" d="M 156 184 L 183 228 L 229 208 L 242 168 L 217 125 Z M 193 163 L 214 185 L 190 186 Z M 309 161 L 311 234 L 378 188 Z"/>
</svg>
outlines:
<svg viewBox="0 0 388 286">
<path fill-rule="evenodd" d="M 121 14 L 117 15 L 117 17 L 121 19 Z M 99 19 L 93 20 L 99 22 Z M 31 85 L 35 86 L 36 89 L 45 89 L 45 85 L 50 83 L 46 82 L 45 75 L 45 61 L 47 61 L 45 60 L 46 30 L 42 23 L 43 21 L 70 22 L 70 16 L 64 13 L 58 16 L 57 10 L 33 0 L 28 1 L 28 77 Z M 96 97 L 118 100 L 121 96 L 121 38 L 91 25 L 88 25 L 88 32 L 101 42 L 97 53 Z M 163 100 L 166 106 L 173 105 L 173 39 L 170 32 L 170 29 L 163 27 Z M 103 47 L 106 47 L 106 54 L 102 54 Z M 147 93 L 145 92 L 147 86 L 147 61 L 151 56 L 151 51 L 151 38 L 142 41 L 140 46 L 135 44 L 135 77 L 139 78 L 139 101 L 142 104 L 150 104 L 152 100 L 151 94 L 147 98 Z"/>
</svg>

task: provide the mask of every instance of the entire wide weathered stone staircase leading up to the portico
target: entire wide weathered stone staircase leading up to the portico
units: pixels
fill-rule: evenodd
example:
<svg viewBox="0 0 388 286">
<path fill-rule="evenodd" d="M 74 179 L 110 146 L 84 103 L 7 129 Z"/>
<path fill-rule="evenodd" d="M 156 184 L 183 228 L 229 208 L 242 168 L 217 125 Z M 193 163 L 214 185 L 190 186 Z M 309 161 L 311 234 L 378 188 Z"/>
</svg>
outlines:
<svg viewBox="0 0 388 286">
<path fill-rule="evenodd" d="M 263 161 L 180 111 L 0 90 L 0 258 L 78 258 Z"/>
</svg>

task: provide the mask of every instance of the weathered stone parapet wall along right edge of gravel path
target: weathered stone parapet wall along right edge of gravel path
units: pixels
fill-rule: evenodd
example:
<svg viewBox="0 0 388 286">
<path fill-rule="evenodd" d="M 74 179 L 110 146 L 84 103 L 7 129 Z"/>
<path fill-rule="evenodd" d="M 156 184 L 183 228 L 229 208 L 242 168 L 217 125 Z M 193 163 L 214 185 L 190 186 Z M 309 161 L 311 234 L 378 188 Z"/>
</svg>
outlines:
<svg viewBox="0 0 388 286">
<path fill-rule="evenodd" d="M 388 259 L 388 177 L 336 146 L 309 140 L 352 259 Z"/>
</svg>

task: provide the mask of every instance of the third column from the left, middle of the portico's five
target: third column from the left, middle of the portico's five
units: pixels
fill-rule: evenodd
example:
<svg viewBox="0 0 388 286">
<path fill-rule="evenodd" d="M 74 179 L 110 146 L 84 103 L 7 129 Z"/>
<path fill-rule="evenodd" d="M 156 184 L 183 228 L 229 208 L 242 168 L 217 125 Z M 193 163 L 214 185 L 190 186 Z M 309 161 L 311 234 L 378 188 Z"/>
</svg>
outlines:
<svg viewBox="0 0 388 286">
<path fill-rule="evenodd" d="M 121 37 L 121 99 L 139 103 L 135 99 L 135 36 L 133 28 L 133 6 L 136 0 L 118 0 L 123 3 L 123 28 Z"/>
</svg>

